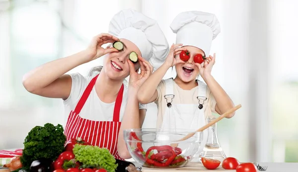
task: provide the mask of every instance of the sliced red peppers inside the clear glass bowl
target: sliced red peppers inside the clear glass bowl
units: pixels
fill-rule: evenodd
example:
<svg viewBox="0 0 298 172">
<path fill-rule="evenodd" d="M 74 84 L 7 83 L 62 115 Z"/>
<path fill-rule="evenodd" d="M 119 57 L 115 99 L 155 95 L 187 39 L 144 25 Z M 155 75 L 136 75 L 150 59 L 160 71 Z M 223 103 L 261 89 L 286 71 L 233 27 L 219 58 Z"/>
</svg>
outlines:
<svg viewBox="0 0 298 172">
<path fill-rule="evenodd" d="M 134 132 L 131 132 L 131 137 L 141 141 Z M 134 150 L 134 155 L 145 162 L 143 165 L 145 167 L 180 167 L 186 163 L 185 157 L 180 155 L 181 153 L 180 148 L 172 148 L 169 145 L 152 146 L 145 152 L 142 148 L 142 142 L 137 142 L 137 149 Z"/>
</svg>

